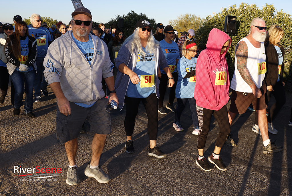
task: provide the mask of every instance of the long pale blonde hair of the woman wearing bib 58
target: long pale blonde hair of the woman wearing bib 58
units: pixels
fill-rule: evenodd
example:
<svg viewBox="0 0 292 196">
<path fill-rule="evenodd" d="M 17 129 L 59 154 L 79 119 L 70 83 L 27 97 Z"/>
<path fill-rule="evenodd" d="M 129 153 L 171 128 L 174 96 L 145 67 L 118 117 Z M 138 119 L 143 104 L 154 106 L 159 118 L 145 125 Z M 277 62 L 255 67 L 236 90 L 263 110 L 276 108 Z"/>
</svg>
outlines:
<svg viewBox="0 0 292 196">
<path fill-rule="evenodd" d="M 125 41 L 124 44 L 127 42 L 131 43 L 132 47 L 132 53 L 134 53 L 134 50 L 138 50 L 138 53 L 145 56 L 146 53 L 143 50 L 143 47 L 141 45 L 141 39 L 140 39 L 140 27 L 137 27 L 136 30 L 131 34 Z M 150 36 L 147 39 L 147 46 L 145 48 L 146 52 L 155 54 L 155 48 L 159 46 L 159 41 L 155 40 L 152 31 L 150 31 Z"/>
</svg>

